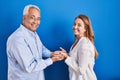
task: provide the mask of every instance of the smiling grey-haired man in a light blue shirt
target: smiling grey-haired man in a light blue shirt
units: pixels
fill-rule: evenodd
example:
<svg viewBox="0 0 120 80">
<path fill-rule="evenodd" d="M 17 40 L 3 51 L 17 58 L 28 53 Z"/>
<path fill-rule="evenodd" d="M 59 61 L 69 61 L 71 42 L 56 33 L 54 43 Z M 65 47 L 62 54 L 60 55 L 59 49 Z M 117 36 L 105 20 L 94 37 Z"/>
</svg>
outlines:
<svg viewBox="0 0 120 80">
<path fill-rule="evenodd" d="M 23 23 L 8 38 L 8 80 L 44 80 L 43 70 L 55 61 L 62 60 L 59 51 L 49 51 L 41 42 L 36 29 L 40 24 L 40 9 L 27 5 Z M 52 57 L 51 57 L 52 55 Z M 42 59 L 42 57 L 49 57 Z"/>
</svg>

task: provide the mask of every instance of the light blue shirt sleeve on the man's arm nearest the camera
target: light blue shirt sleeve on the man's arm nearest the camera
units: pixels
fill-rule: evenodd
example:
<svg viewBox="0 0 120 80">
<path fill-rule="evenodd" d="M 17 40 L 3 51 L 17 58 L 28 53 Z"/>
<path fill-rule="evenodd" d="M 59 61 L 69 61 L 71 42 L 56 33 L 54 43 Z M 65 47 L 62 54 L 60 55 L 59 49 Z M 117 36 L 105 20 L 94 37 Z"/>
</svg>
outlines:
<svg viewBox="0 0 120 80">
<path fill-rule="evenodd" d="M 53 63 L 51 58 L 36 58 L 22 38 L 14 41 L 11 51 L 21 68 L 29 73 L 41 71 Z"/>
</svg>

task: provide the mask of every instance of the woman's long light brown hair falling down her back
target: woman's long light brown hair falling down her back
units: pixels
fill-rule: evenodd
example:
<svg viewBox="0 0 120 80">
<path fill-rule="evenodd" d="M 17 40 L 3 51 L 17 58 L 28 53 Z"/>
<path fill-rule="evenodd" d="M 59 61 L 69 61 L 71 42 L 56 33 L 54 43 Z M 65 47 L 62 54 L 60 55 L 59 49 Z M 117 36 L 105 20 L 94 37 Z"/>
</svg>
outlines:
<svg viewBox="0 0 120 80">
<path fill-rule="evenodd" d="M 78 15 L 75 18 L 75 20 L 76 19 L 81 19 L 84 22 L 85 29 L 86 29 L 85 36 L 87 38 L 89 38 L 89 40 L 94 44 L 94 32 L 92 30 L 92 25 L 91 25 L 90 19 L 85 15 Z M 95 58 L 97 58 L 98 57 L 98 52 L 97 52 L 97 49 L 96 49 L 95 45 L 94 45 L 94 49 L 95 49 Z"/>
</svg>

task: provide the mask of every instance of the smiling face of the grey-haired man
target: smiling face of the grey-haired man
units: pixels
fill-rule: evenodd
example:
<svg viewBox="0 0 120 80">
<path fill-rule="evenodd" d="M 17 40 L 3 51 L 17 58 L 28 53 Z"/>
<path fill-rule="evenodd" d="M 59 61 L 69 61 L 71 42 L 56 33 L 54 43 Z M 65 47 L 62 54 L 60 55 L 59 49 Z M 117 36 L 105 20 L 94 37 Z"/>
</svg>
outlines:
<svg viewBox="0 0 120 80">
<path fill-rule="evenodd" d="M 23 25 L 31 31 L 36 31 L 40 24 L 40 12 L 36 8 L 30 8 L 28 14 L 23 16 Z"/>
</svg>

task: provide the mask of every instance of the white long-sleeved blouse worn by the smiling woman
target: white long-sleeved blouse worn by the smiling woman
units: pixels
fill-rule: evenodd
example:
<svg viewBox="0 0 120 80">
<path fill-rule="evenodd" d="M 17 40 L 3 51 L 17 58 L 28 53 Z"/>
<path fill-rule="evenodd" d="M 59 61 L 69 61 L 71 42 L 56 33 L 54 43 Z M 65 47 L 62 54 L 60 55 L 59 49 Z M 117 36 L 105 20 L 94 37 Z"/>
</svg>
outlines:
<svg viewBox="0 0 120 80">
<path fill-rule="evenodd" d="M 65 63 L 69 66 L 70 80 L 97 80 L 93 70 L 94 46 L 88 38 L 82 37 L 73 49 L 71 47 L 69 55 Z"/>
</svg>

